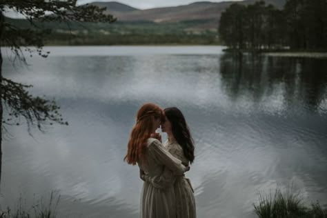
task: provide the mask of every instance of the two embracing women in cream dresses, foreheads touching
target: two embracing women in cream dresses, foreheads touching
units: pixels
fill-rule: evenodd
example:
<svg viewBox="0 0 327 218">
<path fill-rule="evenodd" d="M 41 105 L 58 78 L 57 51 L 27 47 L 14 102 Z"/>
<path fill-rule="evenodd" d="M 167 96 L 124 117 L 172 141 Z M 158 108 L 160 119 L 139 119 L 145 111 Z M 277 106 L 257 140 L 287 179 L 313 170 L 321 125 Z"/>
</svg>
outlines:
<svg viewBox="0 0 327 218">
<path fill-rule="evenodd" d="M 168 140 L 164 145 L 156 132 L 161 126 Z M 195 218 L 195 197 L 184 172 L 194 161 L 194 144 L 185 118 L 178 108 L 162 110 L 153 103 L 139 108 L 130 133 L 128 164 L 138 164 L 141 218 Z"/>
</svg>

